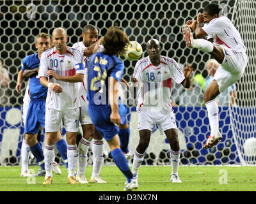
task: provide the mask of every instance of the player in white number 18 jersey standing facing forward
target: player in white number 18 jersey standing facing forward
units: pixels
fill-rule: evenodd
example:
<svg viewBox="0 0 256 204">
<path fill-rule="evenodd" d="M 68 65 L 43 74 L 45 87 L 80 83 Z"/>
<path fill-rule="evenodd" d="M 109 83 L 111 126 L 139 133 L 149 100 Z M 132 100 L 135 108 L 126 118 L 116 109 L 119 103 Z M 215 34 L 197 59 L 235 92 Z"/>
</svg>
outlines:
<svg viewBox="0 0 256 204">
<path fill-rule="evenodd" d="M 138 61 L 134 69 L 132 80 L 135 84 L 139 84 L 137 112 L 140 142 L 134 152 L 132 173 L 138 178 L 138 170 L 150 142 L 152 129 L 157 124 L 159 129 L 164 131 L 171 147 L 171 181 L 180 183 L 178 175 L 180 147 L 170 96 L 172 80 L 189 88 L 192 68 L 187 65 L 182 72 L 174 59 L 164 57 L 160 52 L 159 41 L 149 40 L 147 42 L 149 56 Z"/>
</svg>

